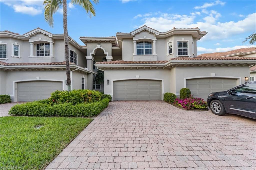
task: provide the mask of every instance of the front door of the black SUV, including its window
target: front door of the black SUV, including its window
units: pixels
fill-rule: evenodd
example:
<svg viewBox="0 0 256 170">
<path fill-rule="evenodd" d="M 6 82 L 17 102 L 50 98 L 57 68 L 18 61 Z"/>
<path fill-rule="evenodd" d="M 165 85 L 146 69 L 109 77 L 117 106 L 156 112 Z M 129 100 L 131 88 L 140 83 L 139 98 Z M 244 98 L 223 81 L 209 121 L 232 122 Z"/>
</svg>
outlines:
<svg viewBox="0 0 256 170">
<path fill-rule="evenodd" d="M 255 117 L 256 82 L 244 84 L 234 89 L 231 95 L 225 97 L 225 104 L 228 113 Z"/>
</svg>

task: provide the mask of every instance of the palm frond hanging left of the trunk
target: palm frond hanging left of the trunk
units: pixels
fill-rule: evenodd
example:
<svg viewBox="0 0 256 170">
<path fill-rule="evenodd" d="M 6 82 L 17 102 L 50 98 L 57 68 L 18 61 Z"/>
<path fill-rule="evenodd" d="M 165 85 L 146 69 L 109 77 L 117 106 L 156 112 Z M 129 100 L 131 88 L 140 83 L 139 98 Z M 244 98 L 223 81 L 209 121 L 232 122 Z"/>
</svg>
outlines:
<svg viewBox="0 0 256 170">
<path fill-rule="evenodd" d="M 53 27 L 53 14 L 62 6 L 62 0 L 44 0 L 45 20 Z"/>
</svg>

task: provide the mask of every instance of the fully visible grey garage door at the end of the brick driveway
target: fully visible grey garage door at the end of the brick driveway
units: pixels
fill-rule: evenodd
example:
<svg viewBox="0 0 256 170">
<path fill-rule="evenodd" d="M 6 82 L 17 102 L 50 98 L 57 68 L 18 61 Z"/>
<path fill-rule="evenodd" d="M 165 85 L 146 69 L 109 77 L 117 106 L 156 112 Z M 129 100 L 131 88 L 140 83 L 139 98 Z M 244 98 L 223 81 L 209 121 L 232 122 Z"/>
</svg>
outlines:
<svg viewBox="0 0 256 170">
<path fill-rule="evenodd" d="M 114 81 L 113 96 L 114 100 L 161 100 L 161 81 Z"/>
</svg>

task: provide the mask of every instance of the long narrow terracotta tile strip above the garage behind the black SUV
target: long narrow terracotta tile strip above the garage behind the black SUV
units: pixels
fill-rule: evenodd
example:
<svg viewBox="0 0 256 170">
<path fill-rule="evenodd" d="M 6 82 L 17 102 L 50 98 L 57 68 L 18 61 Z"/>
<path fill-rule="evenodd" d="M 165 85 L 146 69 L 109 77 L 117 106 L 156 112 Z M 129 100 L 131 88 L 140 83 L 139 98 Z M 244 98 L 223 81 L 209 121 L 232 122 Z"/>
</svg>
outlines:
<svg viewBox="0 0 256 170">
<path fill-rule="evenodd" d="M 256 60 L 254 57 L 175 57 L 171 60 Z"/>
</svg>

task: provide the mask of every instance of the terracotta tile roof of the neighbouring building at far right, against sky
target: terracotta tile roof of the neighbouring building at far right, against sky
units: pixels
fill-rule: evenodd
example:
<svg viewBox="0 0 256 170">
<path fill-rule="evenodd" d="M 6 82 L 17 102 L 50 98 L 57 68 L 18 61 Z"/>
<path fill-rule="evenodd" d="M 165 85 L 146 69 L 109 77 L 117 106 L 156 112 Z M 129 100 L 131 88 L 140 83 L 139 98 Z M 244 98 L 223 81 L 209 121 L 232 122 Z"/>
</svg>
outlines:
<svg viewBox="0 0 256 170">
<path fill-rule="evenodd" d="M 239 49 L 231 50 L 227 52 L 205 53 L 205 54 L 198 55 L 198 57 L 222 57 L 222 56 L 227 56 L 227 55 L 232 55 L 237 53 L 247 53 L 252 51 L 256 51 L 256 47 L 239 48 Z"/>
</svg>

